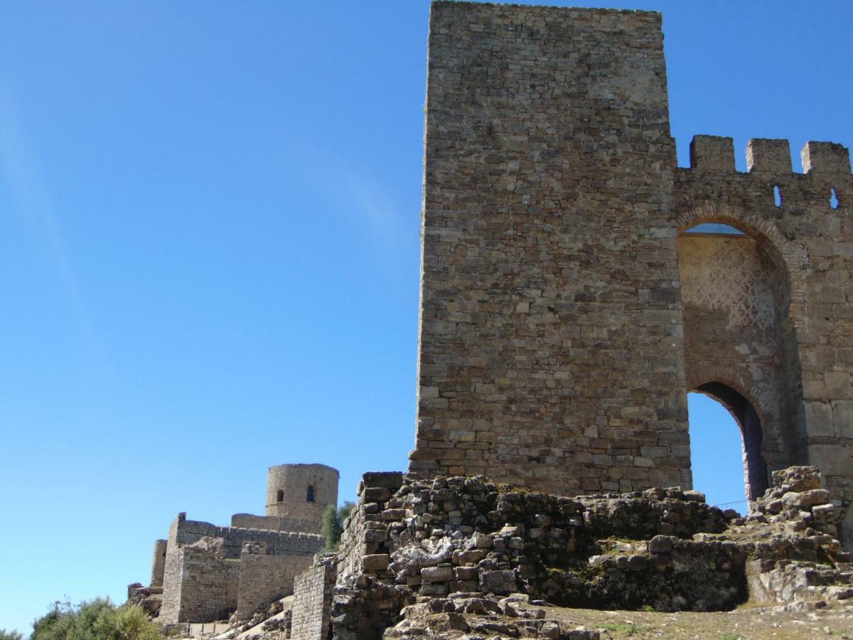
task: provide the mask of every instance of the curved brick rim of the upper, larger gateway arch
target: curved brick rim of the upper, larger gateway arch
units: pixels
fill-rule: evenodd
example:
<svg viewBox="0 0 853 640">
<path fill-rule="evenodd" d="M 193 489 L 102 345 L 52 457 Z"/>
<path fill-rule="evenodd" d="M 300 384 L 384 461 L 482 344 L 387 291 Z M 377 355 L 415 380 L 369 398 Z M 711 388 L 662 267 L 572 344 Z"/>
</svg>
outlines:
<svg viewBox="0 0 853 640">
<path fill-rule="evenodd" d="M 791 289 L 791 301 L 788 305 L 788 317 L 798 332 L 805 329 L 806 275 L 809 273 L 809 254 L 804 247 L 788 240 L 773 220 L 746 212 L 725 203 L 707 202 L 682 213 L 676 218 L 679 232 L 688 230 L 697 224 L 722 222 L 731 224 L 759 244 L 765 244 L 775 250 L 785 265 L 788 284 Z"/>
</svg>

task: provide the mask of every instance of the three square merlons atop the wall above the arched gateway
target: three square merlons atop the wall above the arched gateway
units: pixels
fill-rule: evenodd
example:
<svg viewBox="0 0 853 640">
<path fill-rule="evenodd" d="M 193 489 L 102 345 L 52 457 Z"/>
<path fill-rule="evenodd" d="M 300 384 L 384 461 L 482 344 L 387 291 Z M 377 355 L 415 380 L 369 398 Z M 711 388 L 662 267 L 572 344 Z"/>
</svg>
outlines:
<svg viewBox="0 0 853 640">
<path fill-rule="evenodd" d="M 804 174 L 821 177 L 850 175 L 850 151 L 838 143 L 805 143 L 800 151 Z M 734 140 L 721 136 L 693 136 L 690 168 L 702 172 L 737 172 Z M 791 143 L 780 138 L 752 138 L 746 144 L 746 172 L 763 176 L 792 173 Z"/>
</svg>

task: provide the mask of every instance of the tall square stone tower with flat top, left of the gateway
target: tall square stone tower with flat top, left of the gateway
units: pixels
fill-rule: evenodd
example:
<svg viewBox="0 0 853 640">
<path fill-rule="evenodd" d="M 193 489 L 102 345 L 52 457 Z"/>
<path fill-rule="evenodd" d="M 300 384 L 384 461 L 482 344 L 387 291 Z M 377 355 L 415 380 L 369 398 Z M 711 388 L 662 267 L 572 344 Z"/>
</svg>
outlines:
<svg viewBox="0 0 853 640">
<path fill-rule="evenodd" d="M 690 486 L 660 15 L 433 3 L 409 468 Z"/>
</svg>

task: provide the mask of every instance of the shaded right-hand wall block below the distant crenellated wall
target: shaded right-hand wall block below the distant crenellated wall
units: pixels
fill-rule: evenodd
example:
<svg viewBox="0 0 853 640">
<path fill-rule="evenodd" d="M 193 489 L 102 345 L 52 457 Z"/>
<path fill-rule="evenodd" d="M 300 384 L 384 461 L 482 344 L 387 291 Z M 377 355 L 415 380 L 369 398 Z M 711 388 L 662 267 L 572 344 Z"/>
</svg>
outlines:
<svg viewBox="0 0 853 640">
<path fill-rule="evenodd" d="M 293 579 L 311 566 L 310 557 L 270 556 L 243 550 L 240 556 L 240 585 L 237 618 L 246 620 L 255 610 L 293 593 Z"/>
</svg>

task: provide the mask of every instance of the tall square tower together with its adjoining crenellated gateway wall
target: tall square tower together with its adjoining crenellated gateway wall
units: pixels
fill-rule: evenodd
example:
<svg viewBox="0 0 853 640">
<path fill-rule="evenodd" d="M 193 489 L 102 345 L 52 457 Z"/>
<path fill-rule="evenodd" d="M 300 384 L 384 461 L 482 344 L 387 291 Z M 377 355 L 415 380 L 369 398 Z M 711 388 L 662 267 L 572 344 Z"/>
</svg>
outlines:
<svg viewBox="0 0 853 640">
<path fill-rule="evenodd" d="M 795 173 L 751 140 L 738 172 L 696 136 L 678 167 L 659 14 L 508 4 L 432 3 L 425 129 L 412 471 L 690 487 L 697 391 L 739 422 L 750 497 L 815 464 L 853 542 L 846 148 Z"/>
</svg>

